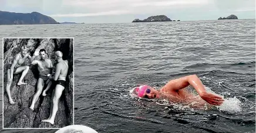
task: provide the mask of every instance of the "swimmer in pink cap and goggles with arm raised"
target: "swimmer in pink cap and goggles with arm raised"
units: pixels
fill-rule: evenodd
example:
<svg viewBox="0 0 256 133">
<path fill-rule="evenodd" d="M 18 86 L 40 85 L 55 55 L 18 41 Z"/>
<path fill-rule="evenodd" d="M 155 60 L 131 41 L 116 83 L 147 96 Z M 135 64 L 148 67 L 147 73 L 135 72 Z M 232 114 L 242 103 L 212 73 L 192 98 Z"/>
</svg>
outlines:
<svg viewBox="0 0 256 133">
<path fill-rule="evenodd" d="M 189 85 L 194 87 L 200 97 L 194 96 L 187 89 L 184 89 Z M 211 105 L 221 105 L 224 101 L 222 97 L 213 93 L 208 93 L 201 83 L 201 80 L 196 75 L 171 80 L 160 90 L 144 85 L 136 87 L 135 92 L 139 97 L 167 98 L 174 103 L 191 104 L 196 102 L 196 107 L 198 107 L 198 105 L 203 106 L 207 103 Z"/>
</svg>

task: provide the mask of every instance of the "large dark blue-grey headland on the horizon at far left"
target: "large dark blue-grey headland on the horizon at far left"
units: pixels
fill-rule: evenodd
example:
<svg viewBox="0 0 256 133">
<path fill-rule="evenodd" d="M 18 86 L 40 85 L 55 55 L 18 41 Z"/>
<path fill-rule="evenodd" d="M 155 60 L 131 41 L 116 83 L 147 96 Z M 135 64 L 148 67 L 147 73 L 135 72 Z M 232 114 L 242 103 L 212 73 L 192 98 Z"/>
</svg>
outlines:
<svg viewBox="0 0 256 133">
<path fill-rule="evenodd" d="M 0 11 L 0 25 L 58 24 L 53 18 L 38 12 L 15 13 Z"/>
</svg>

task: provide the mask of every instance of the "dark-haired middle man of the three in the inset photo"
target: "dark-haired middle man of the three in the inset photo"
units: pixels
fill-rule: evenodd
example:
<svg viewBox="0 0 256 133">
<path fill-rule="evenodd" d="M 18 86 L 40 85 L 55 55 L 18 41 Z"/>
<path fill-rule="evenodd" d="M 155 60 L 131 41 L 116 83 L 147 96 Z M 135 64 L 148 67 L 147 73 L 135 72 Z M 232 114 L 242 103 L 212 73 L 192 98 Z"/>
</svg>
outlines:
<svg viewBox="0 0 256 133">
<path fill-rule="evenodd" d="M 48 74 L 52 72 L 53 64 L 50 59 L 45 59 L 46 51 L 45 49 L 41 49 L 39 51 L 40 60 L 33 60 L 31 63 L 32 65 L 38 65 L 38 71 L 39 71 L 39 77 L 38 77 L 38 83 L 37 83 L 37 90 L 36 93 L 33 96 L 32 103 L 31 103 L 31 110 L 34 109 L 35 103 L 38 100 L 40 94 L 42 93 L 43 86 L 45 84 L 48 84 L 46 89 L 48 90 L 50 86 L 52 85 L 52 81 L 50 81 L 47 77 Z M 46 91 L 44 91 L 46 92 Z M 44 95 L 44 94 L 43 94 Z M 46 94 L 45 94 L 46 95 Z M 44 96 L 45 96 L 44 95 Z"/>
</svg>

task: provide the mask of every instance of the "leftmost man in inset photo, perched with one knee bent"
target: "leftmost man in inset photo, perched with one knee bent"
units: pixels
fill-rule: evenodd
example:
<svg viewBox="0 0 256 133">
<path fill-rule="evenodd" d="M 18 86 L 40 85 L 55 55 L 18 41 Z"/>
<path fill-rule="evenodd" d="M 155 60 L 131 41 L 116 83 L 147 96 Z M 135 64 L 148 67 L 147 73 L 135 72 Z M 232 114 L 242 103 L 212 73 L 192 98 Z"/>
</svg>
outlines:
<svg viewBox="0 0 256 133">
<path fill-rule="evenodd" d="M 22 80 L 28 73 L 29 66 L 24 66 L 23 63 L 25 62 L 25 60 L 27 58 L 30 59 L 29 60 L 30 62 L 32 62 L 33 59 L 35 59 L 35 56 L 38 56 L 38 55 L 36 55 L 36 53 L 34 53 L 33 56 L 31 57 L 28 54 L 28 48 L 25 45 L 22 46 L 21 49 L 22 49 L 22 51 L 15 55 L 13 61 L 9 60 L 9 64 L 7 64 L 7 66 L 6 66 L 7 80 L 8 80 L 7 84 L 6 84 L 6 92 L 7 92 L 7 96 L 9 98 L 10 104 L 15 104 L 15 102 L 12 100 L 11 91 L 10 91 L 14 74 L 22 73 L 21 78 L 19 79 L 19 82 L 17 83 L 18 86 L 21 86 L 22 84 L 26 84 L 26 83 L 23 83 Z M 10 57 L 10 59 L 13 59 L 13 57 Z"/>
</svg>

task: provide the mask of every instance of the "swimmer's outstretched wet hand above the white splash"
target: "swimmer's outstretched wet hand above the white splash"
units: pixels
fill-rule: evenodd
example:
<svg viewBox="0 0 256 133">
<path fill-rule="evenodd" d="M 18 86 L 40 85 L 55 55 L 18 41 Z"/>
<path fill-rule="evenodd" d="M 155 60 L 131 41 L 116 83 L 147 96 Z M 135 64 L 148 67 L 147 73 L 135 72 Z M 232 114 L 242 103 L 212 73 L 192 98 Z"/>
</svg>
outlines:
<svg viewBox="0 0 256 133">
<path fill-rule="evenodd" d="M 200 95 L 200 97 L 207 101 L 207 103 L 209 104 L 213 104 L 213 105 L 221 105 L 223 104 L 224 99 L 220 96 L 217 96 L 216 94 L 213 93 L 207 93 L 204 92 Z"/>
</svg>

